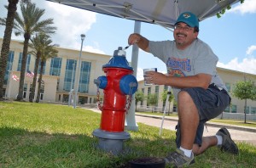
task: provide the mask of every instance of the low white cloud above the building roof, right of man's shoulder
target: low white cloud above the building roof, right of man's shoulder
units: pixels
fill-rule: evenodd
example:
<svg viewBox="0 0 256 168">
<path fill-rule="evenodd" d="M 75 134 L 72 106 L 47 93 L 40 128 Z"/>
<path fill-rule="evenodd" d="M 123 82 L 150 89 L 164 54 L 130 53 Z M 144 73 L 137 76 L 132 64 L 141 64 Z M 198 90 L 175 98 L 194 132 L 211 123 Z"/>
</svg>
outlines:
<svg viewBox="0 0 256 168">
<path fill-rule="evenodd" d="M 223 64 L 218 62 L 217 66 L 230 70 L 237 70 L 241 72 L 247 72 L 250 74 L 256 74 L 256 59 L 254 58 L 246 58 L 242 59 L 241 62 L 238 62 L 238 59 L 232 59 L 228 64 Z"/>
</svg>

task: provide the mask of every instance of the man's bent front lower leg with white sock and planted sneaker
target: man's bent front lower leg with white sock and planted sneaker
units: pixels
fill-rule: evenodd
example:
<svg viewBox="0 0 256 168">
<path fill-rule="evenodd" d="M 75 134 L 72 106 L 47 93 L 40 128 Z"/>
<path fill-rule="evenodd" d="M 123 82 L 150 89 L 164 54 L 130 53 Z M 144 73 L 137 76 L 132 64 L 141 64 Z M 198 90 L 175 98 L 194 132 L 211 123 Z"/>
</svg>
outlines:
<svg viewBox="0 0 256 168">
<path fill-rule="evenodd" d="M 166 162 L 181 167 L 195 163 L 192 149 L 199 124 L 199 115 L 194 101 L 188 92 L 181 91 L 178 93 L 177 104 L 181 146 L 166 157 Z"/>
</svg>

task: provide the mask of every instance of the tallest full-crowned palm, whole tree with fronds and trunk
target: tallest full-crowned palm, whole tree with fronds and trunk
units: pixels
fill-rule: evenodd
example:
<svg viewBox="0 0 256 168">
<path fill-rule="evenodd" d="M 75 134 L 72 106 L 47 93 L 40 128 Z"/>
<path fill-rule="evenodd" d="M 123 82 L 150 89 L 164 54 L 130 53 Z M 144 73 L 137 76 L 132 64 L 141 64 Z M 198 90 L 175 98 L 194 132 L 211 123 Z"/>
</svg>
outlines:
<svg viewBox="0 0 256 168">
<path fill-rule="evenodd" d="M 15 15 L 15 35 L 24 36 L 24 46 L 21 60 L 20 70 L 20 86 L 17 100 L 23 99 L 23 87 L 26 71 L 26 59 L 27 59 L 27 48 L 28 42 L 34 33 L 42 32 L 45 34 L 55 33 L 56 27 L 52 26 L 53 19 L 42 20 L 41 17 L 44 15 L 44 9 L 36 7 L 35 3 L 20 3 L 21 15 Z"/>
</svg>

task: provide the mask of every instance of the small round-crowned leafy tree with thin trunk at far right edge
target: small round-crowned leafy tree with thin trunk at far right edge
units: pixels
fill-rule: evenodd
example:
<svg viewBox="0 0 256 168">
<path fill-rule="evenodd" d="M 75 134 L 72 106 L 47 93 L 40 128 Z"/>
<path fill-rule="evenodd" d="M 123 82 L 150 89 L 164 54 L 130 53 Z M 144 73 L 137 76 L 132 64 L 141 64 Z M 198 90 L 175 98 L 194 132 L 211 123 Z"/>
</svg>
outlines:
<svg viewBox="0 0 256 168">
<path fill-rule="evenodd" d="M 244 104 L 244 123 L 247 122 L 247 99 L 256 100 L 256 86 L 253 81 L 238 81 L 234 85 L 232 94 L 241 100 L 245 100 Z"/>
</svg>

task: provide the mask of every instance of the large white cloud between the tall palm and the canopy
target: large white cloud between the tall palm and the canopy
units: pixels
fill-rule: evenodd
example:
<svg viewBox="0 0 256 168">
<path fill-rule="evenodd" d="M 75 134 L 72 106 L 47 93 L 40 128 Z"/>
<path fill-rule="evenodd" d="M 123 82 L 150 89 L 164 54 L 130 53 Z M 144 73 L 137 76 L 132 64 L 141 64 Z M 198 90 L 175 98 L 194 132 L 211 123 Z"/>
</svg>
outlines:
<svg viewBox="0 0 256 168">
<path fill-rule="evenodd" d="M 96 13 L 90 11 L 49 2 L 45 8 L 47 17 L 54 18 L 58 27 L 53 38 L 61 47 L 77 48 L 81 42 L 80 34 L 86 34 L 96 23 Z"/>
</svg>

